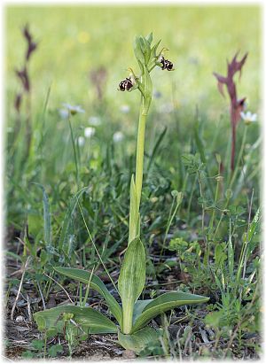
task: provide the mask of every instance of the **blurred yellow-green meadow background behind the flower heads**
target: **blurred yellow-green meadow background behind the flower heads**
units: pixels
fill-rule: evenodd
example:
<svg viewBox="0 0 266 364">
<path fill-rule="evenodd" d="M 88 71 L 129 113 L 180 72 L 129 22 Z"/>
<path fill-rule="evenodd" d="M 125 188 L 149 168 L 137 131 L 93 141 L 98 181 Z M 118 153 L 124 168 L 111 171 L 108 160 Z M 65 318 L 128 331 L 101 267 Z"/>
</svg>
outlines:
<svg viewBox="0 0 266 364">
<path fill-rule="evenodd" d="M 127 68 L 137 70 L 132 41 L 153 31 L 154 40 L 169 49 L 175 73 L 153 72 L 154 89 L 161 97 L 155 106 L 172 102 L 194 110 L 195 105 L 212 118 L 224 112 L 227 102 L 216 91 L 213 71 L 224 74 L 226 58 L 237 50 L 248 51 L 239 85 L 250 109 L 260 105 L 261 9 L 256 6 L 14 6 L 5 8 L 7 103 L 19 89 L 14 68 L 20 66 L 25 41 L 20 30 L 29 24 L 38 50 L 31 60 L 33 107 L 43 105 L 51 86 L 50 107 L 63 102 L 80 104 L 92 112 L 94 87 L 89 73 L 98 66 L 107 72 L 106 99 L 113 112 L 121 105 L 138 106 L 138 92 L 120 94 L 119 81 Z"/>
</svg>

